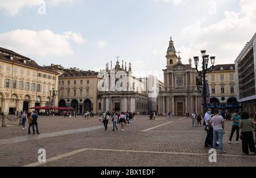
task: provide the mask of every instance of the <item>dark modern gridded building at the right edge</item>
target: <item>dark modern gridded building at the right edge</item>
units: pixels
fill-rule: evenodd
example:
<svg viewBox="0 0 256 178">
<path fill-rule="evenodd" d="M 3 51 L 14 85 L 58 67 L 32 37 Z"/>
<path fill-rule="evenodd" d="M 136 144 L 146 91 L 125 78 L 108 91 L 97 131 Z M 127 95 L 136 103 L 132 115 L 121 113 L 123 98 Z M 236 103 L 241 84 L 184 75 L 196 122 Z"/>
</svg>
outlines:
<svg viewBox="0 0 256 178">
<path fill-rule="evenodd" d="M 242 49 L 236 61 L 237 98 L 243 111 L 256 110 L 256 34 Z"/>
</svg>

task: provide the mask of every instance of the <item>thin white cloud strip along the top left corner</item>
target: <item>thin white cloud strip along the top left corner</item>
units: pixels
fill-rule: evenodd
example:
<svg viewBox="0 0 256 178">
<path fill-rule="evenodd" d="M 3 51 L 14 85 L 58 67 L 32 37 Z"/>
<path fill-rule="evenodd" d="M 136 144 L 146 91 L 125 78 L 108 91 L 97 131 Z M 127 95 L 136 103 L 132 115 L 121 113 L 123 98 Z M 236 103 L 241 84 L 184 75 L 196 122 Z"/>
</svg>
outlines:
<svg viewBox="0 0 256 178">
<path fill-rule="evenodd" d="M 18 14 L 23 7 L 40 6 L 43 3 L 46 5 L 59 5 L 63 2 L 73 2 L 73 0 L 0 0 L 0 9 L 5 10 L 7 15 L 14 16 Z"/>
</svg>

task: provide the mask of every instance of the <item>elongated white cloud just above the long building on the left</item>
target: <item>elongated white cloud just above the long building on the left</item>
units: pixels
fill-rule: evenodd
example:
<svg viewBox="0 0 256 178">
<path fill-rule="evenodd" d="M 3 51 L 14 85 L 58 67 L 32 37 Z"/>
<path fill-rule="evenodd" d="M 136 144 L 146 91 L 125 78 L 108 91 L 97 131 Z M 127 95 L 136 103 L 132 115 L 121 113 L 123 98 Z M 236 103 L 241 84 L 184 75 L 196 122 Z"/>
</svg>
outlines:
<svg viewBox="0 0 256 178">
<path fill-rule="evenodd" d="M 72 55 L 73 50 L 69 41 L 77 44 L 85 43 L 81 34 L 64 32 L 54 34 L 50 30 L 14 30 L 0 34 L 0 45 L 12 49 L 22 55 L 34 56 L 65 56 Z"/>
</svg>

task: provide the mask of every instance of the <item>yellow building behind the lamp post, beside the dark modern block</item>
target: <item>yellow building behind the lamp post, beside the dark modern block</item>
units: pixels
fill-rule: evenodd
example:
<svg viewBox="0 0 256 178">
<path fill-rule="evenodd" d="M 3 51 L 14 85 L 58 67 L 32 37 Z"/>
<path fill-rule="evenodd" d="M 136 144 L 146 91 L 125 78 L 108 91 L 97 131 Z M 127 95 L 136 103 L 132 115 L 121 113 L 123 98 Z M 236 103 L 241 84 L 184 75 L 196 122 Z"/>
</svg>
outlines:
<svg viewBox="0 0 256 178">
<path fill-rule="evenodd" d="M 210 90 L 210 104 L 226 106 L 237 105 L 235 64 L 214 66 L 207 80 Z"/>
</svg>

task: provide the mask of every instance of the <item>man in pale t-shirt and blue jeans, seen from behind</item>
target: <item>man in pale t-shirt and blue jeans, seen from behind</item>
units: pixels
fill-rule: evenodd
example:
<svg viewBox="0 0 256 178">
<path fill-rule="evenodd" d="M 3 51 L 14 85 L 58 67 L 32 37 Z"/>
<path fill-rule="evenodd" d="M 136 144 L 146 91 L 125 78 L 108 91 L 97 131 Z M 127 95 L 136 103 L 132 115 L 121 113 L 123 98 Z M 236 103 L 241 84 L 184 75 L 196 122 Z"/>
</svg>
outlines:
<svg viewBox="0 0 256 178">
<path fill-rule="evenodd" d="M 213 127 L 213 148 L 216 149 L 216 142 L 218 137 L 220 154 L 224 154 L 223 150 L 223 135 L 224 135 L 224 118 L 218 114 L 218 109 L 214 110 L 215 115 L 212 117 Z"/>
</svg>

